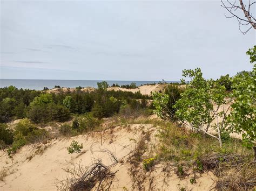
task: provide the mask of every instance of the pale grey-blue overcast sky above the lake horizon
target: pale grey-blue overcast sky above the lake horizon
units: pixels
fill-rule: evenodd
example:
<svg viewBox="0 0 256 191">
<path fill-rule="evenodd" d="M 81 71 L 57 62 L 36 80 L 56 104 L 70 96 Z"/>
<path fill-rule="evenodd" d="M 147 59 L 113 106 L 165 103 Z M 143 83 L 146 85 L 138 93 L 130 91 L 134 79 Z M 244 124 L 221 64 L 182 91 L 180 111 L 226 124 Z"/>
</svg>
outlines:
<svg viewBox="0 0 256 191">
<path fill-rule="evenodd" d="M 251 70 L 220 1 L 1 1 L 0 79 L 178 81 Z"/>
</svg>

